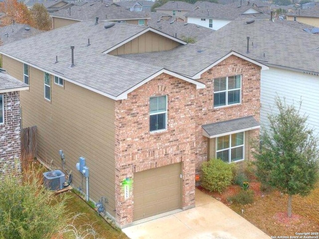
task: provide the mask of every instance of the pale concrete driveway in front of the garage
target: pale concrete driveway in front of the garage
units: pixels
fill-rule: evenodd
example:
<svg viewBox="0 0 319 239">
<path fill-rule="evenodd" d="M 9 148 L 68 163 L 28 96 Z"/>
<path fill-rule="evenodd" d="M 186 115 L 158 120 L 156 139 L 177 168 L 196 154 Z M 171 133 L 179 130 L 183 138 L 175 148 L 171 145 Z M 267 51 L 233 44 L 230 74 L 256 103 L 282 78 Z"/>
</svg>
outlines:
<svg viewBox="0 0 319 239">
<path fill-rule="evenodd" d="M 123 229 L 131 239 L 270 239 L 240 215 L 196 189 L 195 208 Z"/>
</svg>

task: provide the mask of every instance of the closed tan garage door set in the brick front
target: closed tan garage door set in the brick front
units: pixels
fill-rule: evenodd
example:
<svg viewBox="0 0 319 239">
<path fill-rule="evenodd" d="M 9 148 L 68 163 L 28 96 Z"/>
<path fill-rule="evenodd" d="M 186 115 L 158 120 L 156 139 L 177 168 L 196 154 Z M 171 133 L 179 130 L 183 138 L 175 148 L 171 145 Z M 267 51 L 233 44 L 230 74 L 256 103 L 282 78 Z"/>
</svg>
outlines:
<svg viewBox="0 0 319 239">
<path fill-rule="evenodd" d="M 134 174 L 134 221 L 181 208 L 180 165 Z"/>
</svg>

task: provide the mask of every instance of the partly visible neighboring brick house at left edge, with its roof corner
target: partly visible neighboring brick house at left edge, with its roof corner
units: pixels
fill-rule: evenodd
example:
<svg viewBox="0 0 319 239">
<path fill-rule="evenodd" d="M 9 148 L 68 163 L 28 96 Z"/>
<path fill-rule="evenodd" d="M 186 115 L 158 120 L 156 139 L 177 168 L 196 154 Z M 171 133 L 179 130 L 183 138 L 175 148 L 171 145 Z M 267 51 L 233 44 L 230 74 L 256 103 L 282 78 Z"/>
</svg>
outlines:
<svg viewBox="0 0 319 239">
<path fill-rule="evenodd" d="M 0 69 L 0 175 L 20 170 L 20 91 L 28 89 Z"/>
</svg>

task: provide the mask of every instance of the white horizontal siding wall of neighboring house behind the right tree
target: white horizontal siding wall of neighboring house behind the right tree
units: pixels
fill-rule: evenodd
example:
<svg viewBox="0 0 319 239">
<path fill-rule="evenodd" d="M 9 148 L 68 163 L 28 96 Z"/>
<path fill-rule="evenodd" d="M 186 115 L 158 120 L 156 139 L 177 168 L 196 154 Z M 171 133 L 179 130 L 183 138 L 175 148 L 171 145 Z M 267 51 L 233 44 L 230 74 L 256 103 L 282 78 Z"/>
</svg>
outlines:
<svg viewBox="0 0 319 239">
<path fill-rule="evenodd" d="M 267 116 L 276 113 L 275 97 L 286 98 L 288 105 L 299 108 L 301 115 L 308 116 L 309 127 L 319 134 L 319 76 L 270 67 L 261 72 L 261 129 L 267 129 Z"/>
</svg>

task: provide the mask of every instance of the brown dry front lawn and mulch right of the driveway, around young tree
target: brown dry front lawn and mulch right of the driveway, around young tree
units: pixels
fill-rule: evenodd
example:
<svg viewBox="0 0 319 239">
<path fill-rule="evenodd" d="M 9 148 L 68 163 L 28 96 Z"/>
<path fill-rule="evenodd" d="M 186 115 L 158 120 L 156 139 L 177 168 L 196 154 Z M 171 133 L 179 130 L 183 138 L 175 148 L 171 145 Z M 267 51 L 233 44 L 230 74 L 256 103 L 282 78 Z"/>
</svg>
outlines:
<svg viewBox="0 0 319 239">
<path fill-rule="evenodd" d="M 250 183 L 250 189 L 254 191 L 254 202 L 247 205 L 230 204 L 227 201 L 229 196 L 241 190 L 237 185 L 231 185 L 222 194 L 201 190 L 226 204 L 269 236 L 290 237 L 303 232 L 319 233 L 319 183 L 309 196 L 293 197 L 291 218 L 287 217 L 287 195 L 281 195 L 278 191 L 263 193 L 258 182 Z"/>
</svg>

